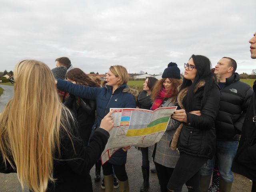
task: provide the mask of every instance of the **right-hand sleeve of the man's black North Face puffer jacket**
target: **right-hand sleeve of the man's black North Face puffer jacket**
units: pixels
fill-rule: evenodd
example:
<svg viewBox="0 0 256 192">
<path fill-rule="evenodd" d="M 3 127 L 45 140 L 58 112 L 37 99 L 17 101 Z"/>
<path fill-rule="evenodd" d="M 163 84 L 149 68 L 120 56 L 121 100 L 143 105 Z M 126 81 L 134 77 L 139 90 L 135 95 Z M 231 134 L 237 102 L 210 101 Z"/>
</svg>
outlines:
<svg viewBox="0 0 256 192">
<path fill-rule="evenodd" d="M 247 111 L 247 108 L 250 104 L 252 94 L 253 94 L 253 90 L 252 90 L 252 88 L 249 87 L 248 90 L 246 91 L 246 94 L 245 94 L 245 97 L 244 97 L 244 103 L 242 104 L 242 115 L 237 120 L 237 122 L 234 123 L 234 127 L 236 128 L 237 134 L 242 133 L 242 126 L 243 126 L 243 123 L 244 123 L 244 118 L 246 116 L 246 111 Z"/>
</svg>

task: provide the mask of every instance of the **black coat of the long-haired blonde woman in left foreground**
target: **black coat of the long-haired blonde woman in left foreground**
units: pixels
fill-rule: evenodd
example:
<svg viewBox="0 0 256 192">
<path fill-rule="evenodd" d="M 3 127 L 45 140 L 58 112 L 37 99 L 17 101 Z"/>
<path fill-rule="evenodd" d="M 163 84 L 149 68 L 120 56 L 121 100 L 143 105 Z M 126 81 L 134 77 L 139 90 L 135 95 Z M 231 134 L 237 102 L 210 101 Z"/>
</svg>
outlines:
<svg viewBox="0 0 256 192">
<path fill-rule="evenodd" d="M 89 172 L 100 158 L 108 141 L 109 133 L 102 128 L 98 128 L 91 138 L 89 146 L 84 147 L 75 125 L 72 125 L 70 132 L 74 135 L 72 141 L 66 132 L 62 131 L 60 133 L 61 157 L 56 155 L 56 158 L 60 160 L 54 160 L 53 165 L 53 177 L 57 181 L 55 184 L 49 182 L 47 192 L 93 191 Z M 5 167 L 1 153 L 0 172 L 15 172 L 10 164 L 7 164 L 7 168 Z"/>
</svg>

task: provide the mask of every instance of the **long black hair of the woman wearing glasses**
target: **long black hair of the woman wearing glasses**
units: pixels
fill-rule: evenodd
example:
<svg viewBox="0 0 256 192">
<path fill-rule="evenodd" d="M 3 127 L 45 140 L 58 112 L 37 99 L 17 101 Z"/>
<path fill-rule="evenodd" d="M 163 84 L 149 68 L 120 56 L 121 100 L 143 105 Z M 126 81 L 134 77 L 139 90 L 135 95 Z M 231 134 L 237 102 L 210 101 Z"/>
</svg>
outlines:
<svg viewBox="0 0 256 192">
<path fill-rule="evenodd" d="M 188 94 L 186 96 L 186 98 L 187 98 L 186 99 L 186 106 L 184 106 L 186 111 L 188 111 L 188 112 L 190 112 L 192 110 L 191 104 L 193 102 L 193 96 L 194 96 L 193 90 L 196 87 L 196 85 L 201 80 L 205 81 L 204 94 L 203 94 L 203 99 L 202 99 L 202 106 L 204 106 L 204 104 L 206 103 L 206 100 L 207 100 L 207 95 L 208 95 L 209 90 L 212 88 L 212 85 L 217 82 L 216 81 L 216 76 L 211 70 L 212 64 L 206 56 L 192 55 L 190 57 L 190 59 L 191 58 L 193 59 L 194 64 L 196 66 L 196 70 L 197 70 L 196 77 L 195 77 L 193 83 L 192 83 L 191 80 L 188 80 L 188 79 L 184 78 L 183 82 L 182 82 L 182 85 L 180 87 L 180 90 L 182 90 L 186 87 L 189 87 L 188 88 Z"/>
</svg>

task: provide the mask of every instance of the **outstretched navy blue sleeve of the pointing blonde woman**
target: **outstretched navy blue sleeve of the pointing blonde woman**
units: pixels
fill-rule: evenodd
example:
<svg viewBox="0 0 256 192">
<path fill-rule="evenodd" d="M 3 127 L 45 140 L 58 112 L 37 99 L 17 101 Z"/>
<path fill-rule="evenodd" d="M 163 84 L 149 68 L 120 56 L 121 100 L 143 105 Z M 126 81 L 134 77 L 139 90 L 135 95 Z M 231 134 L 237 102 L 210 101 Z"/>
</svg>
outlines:
<svg viewBox="0 0 256 192">
<path fill-rule="evenodd" d="M 100 91 L 100 88 L 97 87 L 78 85 L 62 79 L 58 79 L 57 88 L 75 96 L 93 100 L 96 99 L 98 92 Z"/>
</svg>

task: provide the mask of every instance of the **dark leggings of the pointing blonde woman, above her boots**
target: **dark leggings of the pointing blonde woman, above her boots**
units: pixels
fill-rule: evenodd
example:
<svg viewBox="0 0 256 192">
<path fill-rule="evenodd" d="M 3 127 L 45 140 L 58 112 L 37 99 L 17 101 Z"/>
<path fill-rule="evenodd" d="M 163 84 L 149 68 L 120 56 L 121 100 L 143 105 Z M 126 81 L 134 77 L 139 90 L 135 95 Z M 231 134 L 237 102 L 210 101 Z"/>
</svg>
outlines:
<svg viewBox="0 0 256 192">
<path fill-rule="evenodd" d="M 116 177 L 120 181 L 126 181 L 128 179 L 126 170 L 125 170 L 125 164 L 124 165 L 114 165 L 109 162 L 106 162 L 104 165 L 102 165 L 102 170 L 104 175 L 111 175 L 113 174 L 113 168 L 114 172 L 116 174 Z"/>
</svg>

